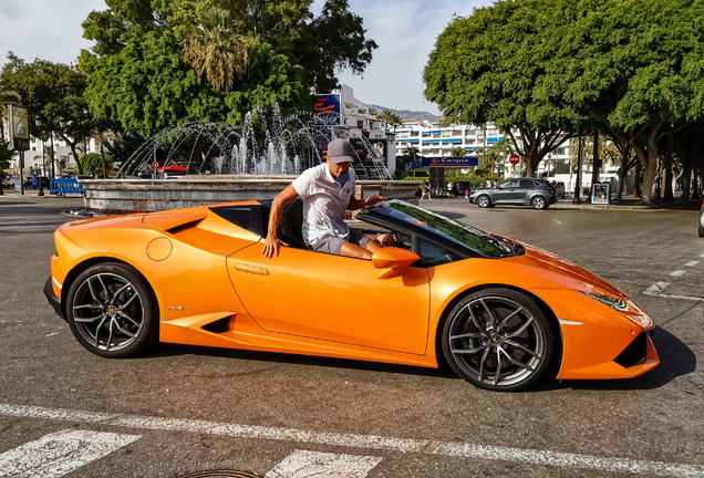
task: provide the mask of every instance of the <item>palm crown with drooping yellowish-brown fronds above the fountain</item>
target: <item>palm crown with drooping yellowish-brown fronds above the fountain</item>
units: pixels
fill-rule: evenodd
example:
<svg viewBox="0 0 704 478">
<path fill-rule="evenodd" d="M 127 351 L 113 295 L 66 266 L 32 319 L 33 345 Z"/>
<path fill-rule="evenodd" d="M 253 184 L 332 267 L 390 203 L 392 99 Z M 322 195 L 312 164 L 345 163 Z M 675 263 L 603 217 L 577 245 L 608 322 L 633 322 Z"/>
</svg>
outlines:
<svg viewBox="0 0 704 478">
<path fill-rule="evenodd" d="M 184 61 L 216 91 L 229 92 L 249 63 L 249 41 L 236 31 L 227 10 L 210 7 L 184 40 Z"/>
</svg>

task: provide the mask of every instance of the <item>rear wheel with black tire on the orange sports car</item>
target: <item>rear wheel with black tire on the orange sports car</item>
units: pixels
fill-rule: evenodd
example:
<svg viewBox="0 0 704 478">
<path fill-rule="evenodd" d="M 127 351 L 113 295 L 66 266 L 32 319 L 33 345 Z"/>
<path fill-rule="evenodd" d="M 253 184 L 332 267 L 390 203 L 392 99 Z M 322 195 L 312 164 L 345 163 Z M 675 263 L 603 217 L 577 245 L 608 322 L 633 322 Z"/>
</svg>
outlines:
<svg viewBox="0 0 704 478">
<path fill-rule="evenodd" d="M 84 270 L 69 289 L 66 319 L 79 343 L 104 357 L 134 355 L 158 339 L 152 288 L 136 269 L 123 263 Z"/>
</svg>

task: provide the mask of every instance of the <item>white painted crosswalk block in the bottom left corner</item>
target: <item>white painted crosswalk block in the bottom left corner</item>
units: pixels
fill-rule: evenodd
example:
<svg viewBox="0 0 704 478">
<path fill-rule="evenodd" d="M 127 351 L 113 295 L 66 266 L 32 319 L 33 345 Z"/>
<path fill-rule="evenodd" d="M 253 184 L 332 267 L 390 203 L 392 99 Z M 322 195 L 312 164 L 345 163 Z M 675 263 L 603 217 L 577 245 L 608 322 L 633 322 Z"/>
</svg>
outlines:
<svg viewBox="0 0 704 478">
<path fill-rule="evenodd" d="M 105 432 L 56 432 L 0 455 L 0 477 L 61 477 L 139 438 Z"/>
</svg>

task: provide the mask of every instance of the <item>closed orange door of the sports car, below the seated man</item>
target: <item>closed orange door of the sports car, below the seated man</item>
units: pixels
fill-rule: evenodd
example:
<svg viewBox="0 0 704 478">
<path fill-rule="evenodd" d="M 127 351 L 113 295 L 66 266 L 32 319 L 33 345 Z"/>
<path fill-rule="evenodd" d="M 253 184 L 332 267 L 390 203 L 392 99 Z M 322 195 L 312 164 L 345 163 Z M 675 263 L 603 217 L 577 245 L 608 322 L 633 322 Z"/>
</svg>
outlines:
<svg viewBox="0 0 704 478">
<path fill-rule="evenodd" d="M 271 259 L 253 245 L 227 259 L 248 313 L 269 332 L 425 354 L 429 278 L 406 268 L 377 279 L 371 261 L 281 248 Z"/>
</svg>

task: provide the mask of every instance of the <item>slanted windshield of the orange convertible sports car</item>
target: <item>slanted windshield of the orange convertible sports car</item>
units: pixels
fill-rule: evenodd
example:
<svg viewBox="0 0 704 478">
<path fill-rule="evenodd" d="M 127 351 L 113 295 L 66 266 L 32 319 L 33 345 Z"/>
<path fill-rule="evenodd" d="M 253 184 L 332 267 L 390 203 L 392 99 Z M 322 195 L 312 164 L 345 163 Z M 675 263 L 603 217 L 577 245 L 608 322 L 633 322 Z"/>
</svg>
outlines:
<svg viewBox="0 0 704 478">
<path fill-rule="evenodd" d="M 491 236 L 483 230 L 454 221 L 408 202 L 390 200 L 379 207 L 387 216 L 434 232 L 445 239 L 473 249 L 487 258 L 501 258 L 517 253 L 515 245 L 504 238 Z"/>
</svg>

